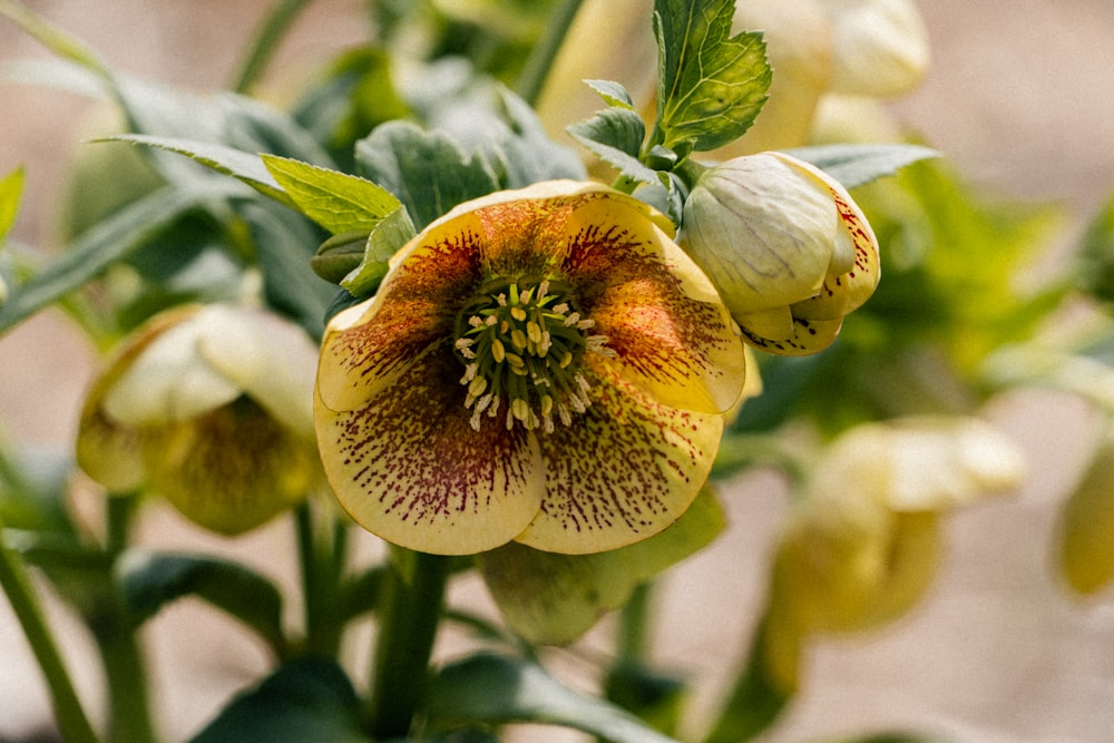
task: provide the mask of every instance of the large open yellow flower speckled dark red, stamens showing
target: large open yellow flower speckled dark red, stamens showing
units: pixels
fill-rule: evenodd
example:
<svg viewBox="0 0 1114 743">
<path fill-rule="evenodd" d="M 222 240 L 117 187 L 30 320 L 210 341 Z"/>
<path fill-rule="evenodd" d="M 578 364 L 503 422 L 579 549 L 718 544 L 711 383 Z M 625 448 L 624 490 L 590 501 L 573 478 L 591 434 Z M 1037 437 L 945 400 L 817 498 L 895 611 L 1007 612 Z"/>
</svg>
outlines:
<svg viewBox="0 0 1114 743">
<path fill-rule="evenodd" d="M 672 224 L 598 184 L 461 204 L 329 324 L 314 417 L 351 516 L 397 545 L 587 554 L 675 521 L 743 350 Z"/>
</svg>

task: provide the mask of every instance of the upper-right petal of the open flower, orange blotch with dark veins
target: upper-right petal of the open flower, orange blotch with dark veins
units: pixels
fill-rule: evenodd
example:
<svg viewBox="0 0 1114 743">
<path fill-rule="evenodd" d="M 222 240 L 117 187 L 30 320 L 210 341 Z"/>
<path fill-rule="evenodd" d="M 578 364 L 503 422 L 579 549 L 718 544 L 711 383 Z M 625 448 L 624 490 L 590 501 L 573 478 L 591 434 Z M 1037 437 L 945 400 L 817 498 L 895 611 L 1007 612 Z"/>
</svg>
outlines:
<svg viewBox="0 0 1114 743">
<path fill-rule="evenodd" d="M 560 239 L 561 273 L 624 378 L 662 404 L 723 412 L 746 363 L 731 315 L 692 258 L 627 202 L 578 206 Z"/>
</svg>

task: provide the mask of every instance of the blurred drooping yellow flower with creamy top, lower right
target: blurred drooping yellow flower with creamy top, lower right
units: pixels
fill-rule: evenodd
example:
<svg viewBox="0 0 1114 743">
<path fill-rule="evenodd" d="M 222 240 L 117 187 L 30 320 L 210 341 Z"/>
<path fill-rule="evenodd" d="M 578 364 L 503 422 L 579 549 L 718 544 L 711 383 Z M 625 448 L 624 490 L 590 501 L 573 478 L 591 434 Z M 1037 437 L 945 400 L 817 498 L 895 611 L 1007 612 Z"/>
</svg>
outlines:
<svg viewBox="0 0 1114 743">
<path fill-rule="evenodd" d="M 1016 444 L 971 418 L 867 423 L 833 441 L 774 558 L 765 641 L 782 683 L 795 686 L 804 637 L 907 612 L 934 575 L 940 516 L 1015 487 L 1024 472 Z"/>
</svg>

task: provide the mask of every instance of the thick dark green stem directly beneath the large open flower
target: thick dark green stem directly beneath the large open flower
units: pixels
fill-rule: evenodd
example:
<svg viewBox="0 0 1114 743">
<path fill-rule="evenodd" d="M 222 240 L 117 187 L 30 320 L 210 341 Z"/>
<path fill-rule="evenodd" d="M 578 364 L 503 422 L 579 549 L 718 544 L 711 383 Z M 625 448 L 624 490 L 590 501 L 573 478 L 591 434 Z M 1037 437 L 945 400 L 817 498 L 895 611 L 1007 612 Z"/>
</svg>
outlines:
<svg viewBox="0 0 1114 743">
<path fill-rule="evenodd" d="M 410 731 L 422 703 L 449 576 L 447 557 L 403 550 L 394 557 L 380 604 L 368 703 L 369 732 L 375 740 L 404 737 Z M 403 575 L 403 567 L 412 569 Z"/>
</svg>

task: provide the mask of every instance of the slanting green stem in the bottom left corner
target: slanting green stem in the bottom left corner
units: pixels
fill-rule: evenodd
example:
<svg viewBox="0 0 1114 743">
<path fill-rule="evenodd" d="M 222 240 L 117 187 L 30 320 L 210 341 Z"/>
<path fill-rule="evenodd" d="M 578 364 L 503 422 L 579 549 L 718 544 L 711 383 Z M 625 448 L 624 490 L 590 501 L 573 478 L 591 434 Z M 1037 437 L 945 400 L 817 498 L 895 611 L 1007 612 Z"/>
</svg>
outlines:
<svg viewBox="0 0 1114 743">
<path fill-rule="evenodd" d="M 2 539 L 3 527 L 0 525 L 0 587 L 8 595 L 16 618 L 19 619 L 42 675 L 46 676 L 58 729 L 69 743 L 97 743 L 97 735 L 92 732 L 53 635 L 47 626 L 27 568 L 19 555 L 9 549 Z"/>
</svg>

